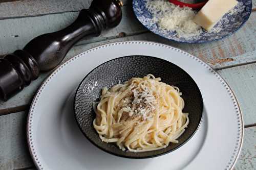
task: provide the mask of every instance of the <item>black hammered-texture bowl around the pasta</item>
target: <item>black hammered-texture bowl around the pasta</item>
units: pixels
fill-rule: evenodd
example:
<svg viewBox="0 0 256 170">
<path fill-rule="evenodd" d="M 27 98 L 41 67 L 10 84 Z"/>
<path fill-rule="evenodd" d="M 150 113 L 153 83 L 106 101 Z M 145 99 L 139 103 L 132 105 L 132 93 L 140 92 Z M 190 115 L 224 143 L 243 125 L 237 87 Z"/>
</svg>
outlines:
<svg viewBox="0 0 256 170">
<path fill-rule="evenodd" d="M 92 106 L 99 100 L 101 89 L 148 74 L 161 77 L 162 82 L 175 85 L 182 92 L 185 101 L 183 111 L 189 113 L 189 124 L 178 138 L 179 143 L 170 143 L 161 150 L 134 153 L 120 150 L 115 143 L 101 141 L 93 127 L 95 113 Z M 151 158 L 178 149 L 195 134 L 202 119 L 203 100 L 195 81 L 177 65 L 155 57 L 127 56 L 99 65 L 82 80 L 74 99 L 74 113 L 83 134 L 103 151 L 126 158 Z"/>
</svg>

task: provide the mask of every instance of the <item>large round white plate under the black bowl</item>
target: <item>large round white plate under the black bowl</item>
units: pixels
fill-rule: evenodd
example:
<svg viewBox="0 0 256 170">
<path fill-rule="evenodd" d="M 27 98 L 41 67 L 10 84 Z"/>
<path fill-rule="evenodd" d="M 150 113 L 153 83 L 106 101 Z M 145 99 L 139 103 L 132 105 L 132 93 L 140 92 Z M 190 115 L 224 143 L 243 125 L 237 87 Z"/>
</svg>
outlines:
<svg viewBox="0 0 256 170">
<path fill-rule="evenodd" d="M 90 143 L 75 122 L 74 92 L 83 77 L 106 61 L 131 55 L 158 57 L 178 65 L 202 93 L 204 113 L 198 131 L 169 154 L 150 159 L 113 156 Z M 147 41 L 98 46 L 59 66 L 39 88 L 27 129 L 29 149 L 38 169 L 231 169 L 243 140 L 242 113 L 220 75 L 186 52 Z"/>
</svg>

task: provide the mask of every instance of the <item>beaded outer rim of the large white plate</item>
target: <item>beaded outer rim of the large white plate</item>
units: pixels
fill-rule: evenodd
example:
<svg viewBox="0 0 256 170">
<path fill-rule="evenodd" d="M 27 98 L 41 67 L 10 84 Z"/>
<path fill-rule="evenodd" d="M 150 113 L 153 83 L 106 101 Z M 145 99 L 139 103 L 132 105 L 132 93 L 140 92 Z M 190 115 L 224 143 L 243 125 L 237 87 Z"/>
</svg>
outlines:
<svg viewBox="0 0 256 170">
<path fill-rule="evenodd" d="M 28 118 L 27 118 L 27 142 L 28 142 L 28 146 L 29 146 L 29 152 L 32 156 L 32 160 L 36 165 L 37 169 L 44 169 L 44 167 L 42 167 L 42 165 L 40 164 L 40 160 L 39 158 L 36 156 L 36 150 L 34 148 L 33 145 L 33 136 L 31 135 L 31 131 L 32 131 L 32 119 L 33 119 L 33 112 L 34 112 L 34 107 L 36 106 L 35 104 L 37 103 L 37 100 L 40 97 L 40 94 L 42 92 L 44 92 L 44 87 L 52 80 L 52 78 L 54 78 L 54 76 L 57 75 L 57 73 L 59 71 L 61 71 L 61 69 L 65 66 L 67 66 L 68 64 L 72 63 L 73 61 L 77 60 L 80 57 L 83 57 L 86 54 L 89 54 L 93 51 L 96 51 L 100 48 L 105 48 L 105 47 L 109 47 L 109 46 L 113 46 L 113 45 L 123 45 L 123 44 L 146 44 L 146 45 L 158 45 L 164 48 L 168 48 L 169 50 L 174 50 L 177 51 L 179 53 L 184 54 L 183 56 L 187 56 L 190 58 L 193 58 L 195 61 L 201 63 L 204 67 L 206 67 L 212 74 L 214 74 L 222 83 L 222 85 L 224 85 L 224 87 L 226 87 L 227 92 L 230 95 L 230 98 L 233 101 L 233 106 L 234 109 L 236 109 L 236 114 L 237 114 L 237 119 L 238 119 L 238 133 L 237 133 L 237 139 L 239 140 L 239 142 L 236 143 L 236 147 L 233 150 L 233 154 L 229 159 L 229 162 L 227 162 L 226 164 L 226 168 L 227 169 L 232 169 L 234 167 L 234 165 L 236 164 L 240 152 L 242 150 L 242 144 L 243 144 L 243 138 L 244 138 L 244 121 L 243 121 L 243 114 L 241 111 L 241 108 L 239 106 L 238 100 L 236 98 L 236 96 L 234 95 L 234 92 L 232 91 L 231 87 L 228 85 L 228 83 L 218 74 L 218 72 L 213 69 L 209 64 L 205 63 L 204 61 L 202 61 L 201 59 L 187 53 L 184 52 L 182 50 L 180 50 L 179 48 L 175 48 L 173 46 L 170 45 L 166 45 L 166 44 L 162 44 L 162 43 L 158 43 L 158 42 L 154 42 L 154 41 L 120 41 L 120 42 L 114 42 L 114 43 L 107 43 L 104 45 L 99 45 L 93 48 L 90 48 L 87 51 L 84 51 L 76 56 L 74 56 L 73 58 L 69 59 L 68 61 L 66 61 L 65 63 L 57 66 L 54 71 L 48 76 L 48 78 L 42 82 L 41 86 L 38 88 L 34 99 L 31 103 L 30 109 L 29 109 L 29 113 L 28 113 Z"/>
</svg>

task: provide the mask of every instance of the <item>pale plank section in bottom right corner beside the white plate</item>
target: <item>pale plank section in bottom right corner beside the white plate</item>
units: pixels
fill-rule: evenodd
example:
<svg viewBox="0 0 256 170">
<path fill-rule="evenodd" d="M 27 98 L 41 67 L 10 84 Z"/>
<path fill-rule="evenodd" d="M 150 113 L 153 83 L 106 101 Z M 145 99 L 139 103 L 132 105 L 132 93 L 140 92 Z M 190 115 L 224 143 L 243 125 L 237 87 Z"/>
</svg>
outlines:
<svg viewBox="0 0 256 170">
<path fill-rule="evenodd" d="M 239 160 L 233 170 L 256 169 L 256 127 L 246 128 Z"/>
</svg>

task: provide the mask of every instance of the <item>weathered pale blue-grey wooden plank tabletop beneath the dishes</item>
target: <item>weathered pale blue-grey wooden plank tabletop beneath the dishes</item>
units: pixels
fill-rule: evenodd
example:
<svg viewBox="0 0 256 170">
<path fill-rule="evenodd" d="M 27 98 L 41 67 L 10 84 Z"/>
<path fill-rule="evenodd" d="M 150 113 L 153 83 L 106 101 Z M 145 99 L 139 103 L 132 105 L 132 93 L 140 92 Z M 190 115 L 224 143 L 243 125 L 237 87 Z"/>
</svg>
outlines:
<svg viewBox="0 0 256 170">
<path fill-rule="evenodd" d="M 34 37 L 70 25 L 87 0 L 0 1 L 0 55 L 21 49 Z M 256 169 L 256 12 L 245 26 L 223 40 L 205 44 L 170 42 L 147 31 L 136 19 L 132 0 L 123 0 L 120 25 L 99 37 L 83 39 L 63 62 L 89 48 L 117 41 L 149 40 L 178 47 L 215 68 L 237 96 L 244 116 L 244 142 L 233 169 Z M 256 8 L 256 0 L 253 0 Z M 1 57 L 1 56 L 0 56 Z M 35 169 L 26 140 L 26 121 L 33 96 L 51 72 L 42 74 L 7 102 L 0 101 L 0 169 Z"/>
</svg>

